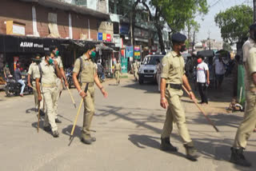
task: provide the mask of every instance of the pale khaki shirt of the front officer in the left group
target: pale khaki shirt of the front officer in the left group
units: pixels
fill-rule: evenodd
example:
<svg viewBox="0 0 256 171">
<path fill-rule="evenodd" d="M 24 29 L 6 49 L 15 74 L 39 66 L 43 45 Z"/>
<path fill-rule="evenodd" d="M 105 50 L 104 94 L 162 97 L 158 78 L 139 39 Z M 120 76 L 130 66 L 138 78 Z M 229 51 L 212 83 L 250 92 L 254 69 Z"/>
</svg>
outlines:
<svg viewBox="0 0 256 171">
<path fill-rule="evenodd" d="M 56 85 L 57 75 L 55 74 L 54 64 L 48 66 L 45 61 L 42 61 L 39 65 L 42 67 L 42 85 Z M 40 78 L 40 71 L 35 74 L 35 78 Z"/>
</svg>

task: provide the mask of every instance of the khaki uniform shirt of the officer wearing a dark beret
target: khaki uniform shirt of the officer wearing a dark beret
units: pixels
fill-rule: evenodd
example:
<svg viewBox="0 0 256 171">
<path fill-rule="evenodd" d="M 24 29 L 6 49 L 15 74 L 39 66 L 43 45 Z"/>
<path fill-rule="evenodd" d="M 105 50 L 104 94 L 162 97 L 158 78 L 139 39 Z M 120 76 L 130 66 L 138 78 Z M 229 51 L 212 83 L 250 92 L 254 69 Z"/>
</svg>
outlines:
<svg viewBox="0 0 256 171">
<path fill-rule="evenodd" d="M 182 55 L 171 51 L 162 58 L 161 67 L 161 78 L 165 78 L 167 84 L 182 84 L 182 76 L 185 74 L 185 62 Z"/>
</svg>

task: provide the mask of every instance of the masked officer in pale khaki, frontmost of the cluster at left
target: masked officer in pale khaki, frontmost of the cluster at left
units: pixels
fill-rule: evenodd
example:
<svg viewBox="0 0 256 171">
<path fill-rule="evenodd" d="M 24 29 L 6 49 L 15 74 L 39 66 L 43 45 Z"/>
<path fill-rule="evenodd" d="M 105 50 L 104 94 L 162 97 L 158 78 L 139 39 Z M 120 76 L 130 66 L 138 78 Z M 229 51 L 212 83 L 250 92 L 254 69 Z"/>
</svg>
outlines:
<svg viewBox="0 0 256 171">
<path fill-rule="evenodd" d="M 41 70 L 40 70 L 41 67 Z M 46 53 L 45 60 L 38 65 L 38 73 L 36 74 L 36 86 L 38 90 L 38 101 L 42 101 L 42 95 L 46 101 L 47 114 L 44 120 L 44 129 L 52 131 L 54 137 L 58 137 L 58 126 L 55 122 L 54 104 L 58 97 L 56 80 L 62 78 L 62 74 L 58 68 L 58 62 L 50 58 L 50 53 Z M 39 84 L 41 78 L 42 94 Z"/>
</svg>

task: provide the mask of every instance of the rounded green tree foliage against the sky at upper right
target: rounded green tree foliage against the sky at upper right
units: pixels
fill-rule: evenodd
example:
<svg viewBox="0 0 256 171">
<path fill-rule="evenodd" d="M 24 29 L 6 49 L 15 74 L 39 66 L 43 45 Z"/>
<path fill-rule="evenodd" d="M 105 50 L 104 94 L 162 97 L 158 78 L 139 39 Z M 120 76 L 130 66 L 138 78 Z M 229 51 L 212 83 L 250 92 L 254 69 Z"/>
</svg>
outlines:
<svg viewBox="0 0 256 171">
<path fill-rule="evenodd" d="M 215 16 L 216 25 L 221 29 L 224 42 L 244 42 L 253 23 L 254 12 L 250 6 L 233 6 Z"/>
</svg>

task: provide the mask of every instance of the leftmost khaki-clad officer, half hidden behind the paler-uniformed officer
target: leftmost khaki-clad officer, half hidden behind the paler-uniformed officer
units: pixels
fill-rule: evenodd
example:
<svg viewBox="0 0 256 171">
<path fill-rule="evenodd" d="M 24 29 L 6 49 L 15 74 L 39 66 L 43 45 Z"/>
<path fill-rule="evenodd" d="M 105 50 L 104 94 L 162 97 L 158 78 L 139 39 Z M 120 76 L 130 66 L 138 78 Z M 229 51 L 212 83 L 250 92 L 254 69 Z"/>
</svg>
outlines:
<svg viewBox="0 0 256 171">
<path fill-rule="evenodd" d="M 36 88 L 36 82 L 35 82 L 35 76 L 39 72 L 38 69 L 38 64 L 41 62 L 41 57 L 39 54 L 36 55 L 35 58 L 32 59 L 32 63 L 30 64 L 30 68 L 28 71 L 28 76 L 27 76 L 27 85 L 30 87 L 33 87 L 33 93 L 34 93 L 34 106 L 35 109 L 38 109 L 38 103 L 40 103 L 40 109 L 43 109 L 43 100 L 41 102 L 38 101 L 38 92 L 35 89 Z M 31 85 L 31 79 L 32 78 L 32 85 Z M 44 112 L 44 111 L 42 111 Z"/>
</svg>

